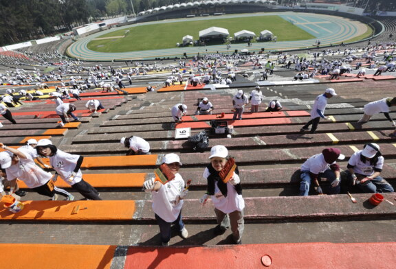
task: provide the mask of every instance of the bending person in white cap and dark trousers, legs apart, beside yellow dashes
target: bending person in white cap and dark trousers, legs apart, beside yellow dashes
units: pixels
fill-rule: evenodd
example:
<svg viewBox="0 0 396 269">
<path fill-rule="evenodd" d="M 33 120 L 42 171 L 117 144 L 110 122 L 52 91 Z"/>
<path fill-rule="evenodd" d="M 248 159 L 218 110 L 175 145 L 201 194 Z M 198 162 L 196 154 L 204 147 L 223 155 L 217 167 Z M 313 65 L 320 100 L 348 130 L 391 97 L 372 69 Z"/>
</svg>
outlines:
<svg viewBox="0 0 396 269">
<path fill-rule="evenodd" d="M 303 128 L 300 129 L 300 132 L 305 132 L 309 130 L 309 126 L 312 125 L 311 127 L 311 134 L 313 134 L 316 131 L 316 128 L 318 128 L 318 124 L 320 121 L 320 118 L 322 119 L 327 119 L 329 120 L 329 117 L 325 117 L 325 109 L 327 106 L 327 99 L 330 99 L 333 96 L 336 96 L 337 93 L 334 91 L 334 89 L 329 88 L 326 89 L 325 93 L 318 95 L 315 99 L 314 106 L 312 106 L 311 110 L 311 120 L 303 126 Z"/>
</svg>

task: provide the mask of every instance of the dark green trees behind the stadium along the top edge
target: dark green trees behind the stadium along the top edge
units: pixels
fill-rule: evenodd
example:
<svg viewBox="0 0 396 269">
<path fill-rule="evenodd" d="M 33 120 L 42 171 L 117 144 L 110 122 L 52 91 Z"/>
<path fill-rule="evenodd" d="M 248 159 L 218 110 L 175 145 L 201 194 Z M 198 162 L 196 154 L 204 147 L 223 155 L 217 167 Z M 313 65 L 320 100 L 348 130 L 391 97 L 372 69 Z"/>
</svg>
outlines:
<svg viewBox="0 0 396 269">
<path fill-rule="evenodd" d="M 108 16 L 194 0 L 0 0 L 0 46 L 69 32 Z M 344 3 L 346 0 L 342 0 Z M 353 0 L 367 10 L 395 10 L 396 0 Z M 297 0 L 278 0 L 296 3 Z M 351 5 L 351 0 L 348 1 Z M 133 8 L 132 8 L 133 5 Z"/>
</svg>

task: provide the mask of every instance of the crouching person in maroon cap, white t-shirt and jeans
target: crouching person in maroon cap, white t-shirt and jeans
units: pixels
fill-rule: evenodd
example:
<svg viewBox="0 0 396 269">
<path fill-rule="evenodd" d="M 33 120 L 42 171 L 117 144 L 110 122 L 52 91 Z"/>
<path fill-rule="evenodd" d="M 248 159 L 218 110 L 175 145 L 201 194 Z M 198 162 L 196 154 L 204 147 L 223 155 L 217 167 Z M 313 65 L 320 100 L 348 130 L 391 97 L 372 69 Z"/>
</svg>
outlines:
<svg viewBox="0 0 396 269">
<path fill-rule="evenodd" d="M 308 196 L 312 182 L 314 182 L 318 194 L 323 194 L 322 187 L 319 185 L 319 179 L 322 177 L 327 178 L 330 182 L 329 194 L 339 194 L 340 165 L 336 163 L 336 160 L 344 159 L 345 156 L 338 148 L 325 148 L 322 153 L 309 157 L 301 165 L 300 196 Z"/>
</svg>

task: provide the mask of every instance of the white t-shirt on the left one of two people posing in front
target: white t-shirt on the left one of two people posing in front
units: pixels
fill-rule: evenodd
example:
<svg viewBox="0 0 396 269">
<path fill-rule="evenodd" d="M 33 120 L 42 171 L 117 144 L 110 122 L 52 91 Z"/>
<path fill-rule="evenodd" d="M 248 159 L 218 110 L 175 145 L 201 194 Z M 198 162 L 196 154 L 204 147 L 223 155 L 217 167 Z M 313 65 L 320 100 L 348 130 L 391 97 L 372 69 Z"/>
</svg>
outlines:
<svg viewBox="0 0 396 269">
<path fill-rule="evenodd" d="M 184 200 L 175 200 L 184 189 L 184 180 L 179 173 L 175 174 L 175 179 L 162 185 L 158 191 L 151 191 L 153 197 L 153 211 L 159 218 L 166 222 L 174 222 L 183 207 Z"/>
</svg>

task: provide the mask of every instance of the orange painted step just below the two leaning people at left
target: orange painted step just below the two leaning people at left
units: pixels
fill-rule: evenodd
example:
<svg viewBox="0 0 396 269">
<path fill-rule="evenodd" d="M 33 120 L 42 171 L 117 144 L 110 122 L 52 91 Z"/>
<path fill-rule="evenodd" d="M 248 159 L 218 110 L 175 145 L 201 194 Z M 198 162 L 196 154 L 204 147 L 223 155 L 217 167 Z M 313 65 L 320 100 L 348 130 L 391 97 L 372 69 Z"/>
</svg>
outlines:
<svg viewBox="0 0 396 269">
<path fill-rule="evenodd" d="M 132 220 L 135 213 L 133 200 L 23 201 L 25 207 L 19 213 L 12 213 L 0 204 L 0 220 Z M 80 211 L 72 214 L 77 205 Z"/>
</svg>

